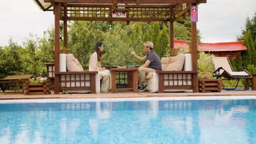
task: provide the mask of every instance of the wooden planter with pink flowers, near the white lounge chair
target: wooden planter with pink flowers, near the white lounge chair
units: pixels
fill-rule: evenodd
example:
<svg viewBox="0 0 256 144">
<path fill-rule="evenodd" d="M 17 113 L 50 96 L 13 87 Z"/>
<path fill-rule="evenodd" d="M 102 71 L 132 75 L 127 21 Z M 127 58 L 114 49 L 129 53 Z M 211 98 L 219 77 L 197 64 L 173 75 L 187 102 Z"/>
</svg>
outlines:
<svg viewBox="0 0 256 144">
<path fill-rule="evenodd" d="M 220 92 L 222 90 L 222 80 L 213 79 L 211 73 L 198 74 L 199 92 L 211 91 Z"/>
</svg>

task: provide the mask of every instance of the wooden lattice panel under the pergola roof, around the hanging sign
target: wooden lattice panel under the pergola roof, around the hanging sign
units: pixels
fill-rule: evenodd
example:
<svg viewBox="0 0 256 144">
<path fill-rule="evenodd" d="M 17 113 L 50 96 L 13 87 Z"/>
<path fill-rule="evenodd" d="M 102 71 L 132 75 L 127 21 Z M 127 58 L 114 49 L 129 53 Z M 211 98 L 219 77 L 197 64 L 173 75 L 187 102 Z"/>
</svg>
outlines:
<svg viewBox="0 0 256 144">
<path fill-rule="evenodd" d="M 174 5 L 110 5 L 110 4 L 68 4 L 68 20 L 102 20 L 102 21 L 168 21 L 173 9 L 174 20 L 189 11 L 191 4 L 178 3 Z M 126 17 L 114 19 L 112 12 L 122 6 Z M 63 14 L 63 8 L 62 8 Z M 182 14 L 182 15 L 181 15 Z M 97 19 L 94 19 L 97 18 Z M 156 19 L 153 19 L 156 18 Z"/>
</svg>

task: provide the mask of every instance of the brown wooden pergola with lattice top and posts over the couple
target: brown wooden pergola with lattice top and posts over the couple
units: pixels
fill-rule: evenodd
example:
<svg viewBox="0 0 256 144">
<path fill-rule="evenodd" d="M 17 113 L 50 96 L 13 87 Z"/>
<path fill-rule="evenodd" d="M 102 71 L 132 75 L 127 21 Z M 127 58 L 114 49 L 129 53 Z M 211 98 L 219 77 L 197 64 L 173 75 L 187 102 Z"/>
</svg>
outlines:
<svg viewBox="0 0 256 144">
<path fill-rule="evenodd" d="M 44 10 L 55 15 L 55 72 L 60 71 L 60 20 L 63 21 L 64 46 L 67 47 L 67 21 L 165 21 L 170 22 L 170 49 L 173 49 L 173 22 L 190 15 L 191 5 L 207 0 L 34 0 Z M 49 5 L 50 4 L 50 5 Z M 113 12 L 123 11 L 125 17 L 114 17 Z M 191 22 L 193 45 L 193 71 L 197 71 L 196 22 Z M 197 73 L 193 73 L 193 92 L 198 92 Z M 60 77 L 55 76 L 55 94 L 60 93 Z"/>
</svg>

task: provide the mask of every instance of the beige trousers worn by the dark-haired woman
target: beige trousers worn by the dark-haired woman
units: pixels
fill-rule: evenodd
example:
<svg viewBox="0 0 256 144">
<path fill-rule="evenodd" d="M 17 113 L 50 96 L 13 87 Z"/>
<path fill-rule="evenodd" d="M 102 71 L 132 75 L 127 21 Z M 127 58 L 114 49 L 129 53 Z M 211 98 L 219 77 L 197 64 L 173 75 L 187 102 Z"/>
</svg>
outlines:
<svg viewBox="0 0 256 144">
<path fill-rule="evenodd" d="M 109 92 L 109 90 L 112 88 L 110 71 L 102 70 L 98 71 L 98 73 L 102 76 L 101 92 Z"/>
</svg>

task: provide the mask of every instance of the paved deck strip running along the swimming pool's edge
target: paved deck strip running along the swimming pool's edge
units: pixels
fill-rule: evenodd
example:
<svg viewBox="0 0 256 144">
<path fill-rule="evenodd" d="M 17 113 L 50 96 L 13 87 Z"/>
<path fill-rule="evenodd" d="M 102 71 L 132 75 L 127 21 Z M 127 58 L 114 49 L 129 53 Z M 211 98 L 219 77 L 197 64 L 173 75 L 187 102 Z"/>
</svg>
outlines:
<svg viewBox="0 0 256 144">
<path fill-rule="evenodd" d="M 150 92 L 104 92 L 100 94 L 91 93 L 72 93 L 72 94 L 51 94 L 46 95 L 24 95 L 15 92 L 0 92 L 0 100 L 14 100 L 14 99 L 99 99 L 99 98 L 146 98 L 146 97 L 228 97 L 228 96 L 256 96 L 256 91 L 226 91 L 221 92 L 205 92 L 193 93 L 191 89 L 186 92 L 165 92 L 165 93 L 150 93 Z"/>
</svg>

